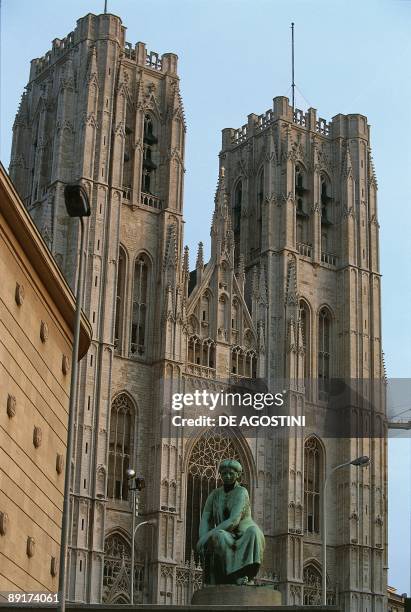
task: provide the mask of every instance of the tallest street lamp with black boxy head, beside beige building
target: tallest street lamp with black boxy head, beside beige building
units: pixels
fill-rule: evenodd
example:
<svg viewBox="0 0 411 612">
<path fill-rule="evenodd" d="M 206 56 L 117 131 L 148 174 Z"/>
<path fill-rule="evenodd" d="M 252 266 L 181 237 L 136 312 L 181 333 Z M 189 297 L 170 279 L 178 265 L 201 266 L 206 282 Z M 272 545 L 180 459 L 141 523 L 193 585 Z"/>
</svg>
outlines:
<svg viewBox="0 0 411 612">
<path fill-rule="evenodd" d="M 67 549 L 70 527 L 70 479 L 71 456 L 73 454 L 74 416 L 77 399 L 78 379 L 78 349 L 80 341 L 81 304 L 83 302 L 83 276 L 84 276 L 84 221 L 83 217 L 90 216 L 90 203 L 85 189 L 81 185 L 66 185 L 64 188 L 64 202 L 69 217 L 77 217 L 80 221 L 80 261 L 77 278 L 76 310 L 74 319 L 73 351 L 71 356 L 70 401 L 68 411 L 66 469 L 64 477 L 64 503 L 61 525 L 60 569 L 59 569 L 59 610 L 66 608 L 66 576 L 67 576 Z"/>
</svg>

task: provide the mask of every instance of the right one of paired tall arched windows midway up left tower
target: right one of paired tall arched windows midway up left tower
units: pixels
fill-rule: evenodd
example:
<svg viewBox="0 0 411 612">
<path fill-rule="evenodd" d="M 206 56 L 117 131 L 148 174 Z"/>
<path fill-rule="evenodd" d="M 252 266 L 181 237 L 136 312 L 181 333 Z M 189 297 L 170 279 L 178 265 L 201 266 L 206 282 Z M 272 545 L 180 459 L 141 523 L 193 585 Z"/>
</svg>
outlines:
<svg viewBox="0 0 411 612">
<path fill-rule="evenodd" d="M 134 265 L 131 355 L 141 356 L 146 353 L 148 280 L 148 259 L 145 255 L 140 255 Z"/>
</svg>

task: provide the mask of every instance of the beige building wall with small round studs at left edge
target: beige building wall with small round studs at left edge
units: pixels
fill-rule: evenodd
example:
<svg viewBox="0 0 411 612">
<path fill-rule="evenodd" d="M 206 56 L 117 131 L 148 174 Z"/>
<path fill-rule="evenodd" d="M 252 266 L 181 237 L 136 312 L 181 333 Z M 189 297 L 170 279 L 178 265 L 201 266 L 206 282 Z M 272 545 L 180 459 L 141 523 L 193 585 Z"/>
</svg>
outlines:
<svg viewBox="0 0 411 612">
<path fill-rule="evenodd" d="M 74 298 L 3 168 L 0 278 L 0 591 L 56 592 Z"/>
</svg>

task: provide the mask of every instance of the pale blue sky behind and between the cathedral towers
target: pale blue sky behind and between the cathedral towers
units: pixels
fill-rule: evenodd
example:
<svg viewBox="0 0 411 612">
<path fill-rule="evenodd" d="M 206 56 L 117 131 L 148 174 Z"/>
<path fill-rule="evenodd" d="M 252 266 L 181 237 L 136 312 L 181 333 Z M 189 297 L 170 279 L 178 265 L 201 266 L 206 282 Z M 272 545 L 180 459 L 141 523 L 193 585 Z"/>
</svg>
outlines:
<svg viewBox="0 0 411 612">
<path fill-rule="evenodd" d="M 1 159 L 29 63 L 104 0 L 3 0 Z M 321 117 L 362 113 L 379 185 L 383 346 L 387 374 L 410 377 L 411 0 L 108 0 L 127 40 L 179 56 L 188 125 L 186 242 L 209 245 L 221 129 L 239 127 L 290 91 L 295 22 L 296 105 Z M 409 396 L 407 398 L 409 400 Z M 389 582 L 410 592 L 411 439 L 389 441 Z"/>
</svg>

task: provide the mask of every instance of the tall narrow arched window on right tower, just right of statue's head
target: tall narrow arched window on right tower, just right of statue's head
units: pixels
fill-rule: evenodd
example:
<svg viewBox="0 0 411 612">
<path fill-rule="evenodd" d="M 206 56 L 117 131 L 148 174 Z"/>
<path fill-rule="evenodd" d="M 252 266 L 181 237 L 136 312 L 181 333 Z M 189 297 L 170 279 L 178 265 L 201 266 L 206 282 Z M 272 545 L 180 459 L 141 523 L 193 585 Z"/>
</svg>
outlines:
<svg viewBox="0 0 411 612">
<path fill-rule="evenodd" d="M 322 487 L 323 452 L 316 437 L 304 444 L 304 531 L 320 533 L 320 493 Z"/>
</svg>

